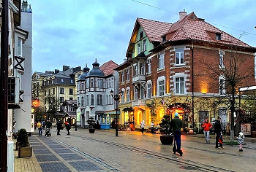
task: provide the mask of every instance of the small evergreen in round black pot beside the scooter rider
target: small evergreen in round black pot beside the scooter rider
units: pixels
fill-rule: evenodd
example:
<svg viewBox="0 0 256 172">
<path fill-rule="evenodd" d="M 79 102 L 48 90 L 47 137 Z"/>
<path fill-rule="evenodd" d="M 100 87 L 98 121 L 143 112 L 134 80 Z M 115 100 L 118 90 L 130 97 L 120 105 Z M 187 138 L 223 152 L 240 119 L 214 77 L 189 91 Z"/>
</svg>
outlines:
<svg viewBox="0 0 256 172">
<path fill-rule="evenodd" d="M 173 135 L 170 133 L 170 115 L 165 114 L 159 123 L 160 141 L 162 144 L 173 144 Z"/>
</svg>

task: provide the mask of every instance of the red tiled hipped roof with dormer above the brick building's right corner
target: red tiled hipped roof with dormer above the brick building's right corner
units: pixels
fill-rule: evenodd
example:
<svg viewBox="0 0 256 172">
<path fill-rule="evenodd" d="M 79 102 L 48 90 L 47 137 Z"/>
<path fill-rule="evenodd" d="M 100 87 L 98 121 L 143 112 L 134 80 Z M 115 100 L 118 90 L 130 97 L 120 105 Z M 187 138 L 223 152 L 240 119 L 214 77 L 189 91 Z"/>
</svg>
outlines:
<svg viewBox="0 0 256 172">
<path fill-rule="evenodd" d="M 221 40 L 216 40 L 211 33 L 221 34 Z M 198 18 L 194 12 L 190 13 L 183 20 L 173 23 L 167 34 L 173 34 L 167 41 L 180 41 L 195 39 L 203 42 L 213 42 L 222 44 L 233 44 L 241 47 L 251 47 L 241 42 L 239 39 L 225 33 L 224 31 L 212 26 L 205 20 Z M 166 35 L 167 35 L 166 34 Z"/>
</svg>

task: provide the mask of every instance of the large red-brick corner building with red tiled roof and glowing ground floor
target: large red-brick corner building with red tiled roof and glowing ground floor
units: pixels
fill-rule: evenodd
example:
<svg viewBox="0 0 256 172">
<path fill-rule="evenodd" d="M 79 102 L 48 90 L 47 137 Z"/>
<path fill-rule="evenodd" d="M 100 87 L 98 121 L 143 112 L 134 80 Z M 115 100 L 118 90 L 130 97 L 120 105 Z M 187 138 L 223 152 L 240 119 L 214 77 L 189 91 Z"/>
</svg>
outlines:
<svg viewBox="0 0 256 172">
<path fill-rule="evenodd" d="M 178 112 L 184 128 L 218 116 L 228 124 L 230 109 L 220 101 L 230 94 L 227 73 L 246 75 L 236 86 L 255 85 L 255 52 L 194 12 L 180 12 L 173 24 L 137 18 L 127 61 L 116 68 L 124 92 L 119 123 L 140 128 L 145 120 L 149 128 Z"/>
</svg>

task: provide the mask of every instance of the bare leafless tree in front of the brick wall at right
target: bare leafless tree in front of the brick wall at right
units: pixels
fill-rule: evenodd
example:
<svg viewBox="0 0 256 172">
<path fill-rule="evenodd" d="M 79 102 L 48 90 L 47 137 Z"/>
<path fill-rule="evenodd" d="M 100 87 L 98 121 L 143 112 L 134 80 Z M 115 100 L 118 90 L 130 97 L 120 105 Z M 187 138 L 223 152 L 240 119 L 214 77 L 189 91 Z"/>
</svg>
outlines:
<svg viewBox="0 0 256 172">
<path fill-rule="evenodd" d="M 222 53 L 222 52 L 221 52 Z M 231 130 L 230 141 L 234 139 L 234 116 L 236 112 L 236 98 L 238 95 L 238 87 L 247 85 L 255 79 L 254 73 L 254 56 L 249 53 L 244 53 L 242 47 L 232 46 L 229 50 L 225 50 L 224 54 L 217 53 L 216 59 L 200 59 L 200 64 L 203 64 L 204 69 L 208 72 L 211 79 L 214 79 L 211 87 L 218 88 L 218 95 L 223 99 L 223 102 L 230 107 L 231 112 Z"/>
</svg>

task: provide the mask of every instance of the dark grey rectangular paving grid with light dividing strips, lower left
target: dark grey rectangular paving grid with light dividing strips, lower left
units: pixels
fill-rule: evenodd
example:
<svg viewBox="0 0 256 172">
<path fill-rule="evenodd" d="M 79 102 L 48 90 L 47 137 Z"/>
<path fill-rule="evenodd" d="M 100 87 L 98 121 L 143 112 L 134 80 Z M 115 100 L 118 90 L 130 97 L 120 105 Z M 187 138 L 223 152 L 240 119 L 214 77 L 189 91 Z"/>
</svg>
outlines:
<svg viewBox="0 0 256 172">
<path fill-rule="evenodd" d="M 29 141 L 43 172 L 69 172 L 72 168 L 76 171 L 102 171 L 102 168 L 91 163 L 83 155 L 72 152 L 48 137 L 37 139 L 37 136 L 31 136 Z"/>
</svg>

